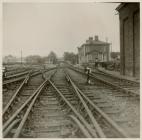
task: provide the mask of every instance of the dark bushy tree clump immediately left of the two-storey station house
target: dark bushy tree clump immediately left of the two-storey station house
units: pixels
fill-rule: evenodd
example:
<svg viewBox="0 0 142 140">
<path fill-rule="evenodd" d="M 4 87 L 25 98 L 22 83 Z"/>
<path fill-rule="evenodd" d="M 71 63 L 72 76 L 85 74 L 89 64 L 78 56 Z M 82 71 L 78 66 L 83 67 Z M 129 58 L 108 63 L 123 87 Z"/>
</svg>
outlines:
<svg viewBox="0 0 142 140">
<path fill-rule="evenodd" d="M 72 64 L 76 64 L 78 62 L 78 55 L 73 52 L 64 52 L 64 60 L 70 61 Z"/>
</svg>

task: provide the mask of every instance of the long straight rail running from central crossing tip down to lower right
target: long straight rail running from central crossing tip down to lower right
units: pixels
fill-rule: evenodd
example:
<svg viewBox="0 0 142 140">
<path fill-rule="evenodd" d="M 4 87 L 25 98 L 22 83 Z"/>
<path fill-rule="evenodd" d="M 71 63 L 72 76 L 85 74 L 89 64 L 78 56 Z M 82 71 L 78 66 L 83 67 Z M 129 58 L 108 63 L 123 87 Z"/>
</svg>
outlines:
<svg viewBox="0 0 142 140">
<path fill-rule="evenodd" d="M 59 91 L 59 89 L 54 85 L 51 80 L 49 83 L 53 86 L 53 88 L 57 91 L 58 95 L 61 99 L 68 105 L 68 107 L 74 112 L 74 114 L 82 121 L 85 127 L 88 129 L 88 132 L 91 134 L 92 137 L 97 137 L 96 131 L 88 124 L 88 122 L 82 117 L 82 115 L 71 105 L 71 103 L 66 99 L 66 97 Z"/>
</svg>

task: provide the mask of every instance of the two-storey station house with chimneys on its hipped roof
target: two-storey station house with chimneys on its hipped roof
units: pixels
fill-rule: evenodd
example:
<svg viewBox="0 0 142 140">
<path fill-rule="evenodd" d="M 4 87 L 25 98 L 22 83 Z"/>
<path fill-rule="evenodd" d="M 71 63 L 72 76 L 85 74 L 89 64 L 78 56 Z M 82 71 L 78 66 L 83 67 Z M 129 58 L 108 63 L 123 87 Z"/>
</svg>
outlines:
<svg viewBox="0 0 142 140">
<path fill-rule="evenodd" d="M 95 36 L 94 39 L 89 37 L 86 43 L 78 47 L 79 64 L 109 61 L 109 46 L 109 43 L 100 41 L 98 36 Z"/>
</svg>

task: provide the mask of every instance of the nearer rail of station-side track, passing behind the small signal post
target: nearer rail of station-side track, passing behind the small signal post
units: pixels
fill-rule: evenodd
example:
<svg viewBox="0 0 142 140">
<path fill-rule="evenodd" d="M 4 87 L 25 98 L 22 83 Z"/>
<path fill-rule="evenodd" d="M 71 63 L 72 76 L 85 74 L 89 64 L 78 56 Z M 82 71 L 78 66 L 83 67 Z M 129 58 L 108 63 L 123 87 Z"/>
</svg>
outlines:
<svg viewBox="0 0 142 140">
<path fill-rule="evenodd" d="M 71 68 L 71 67 L 70 67 L 70 68 Z M 77 71 L 77 72 L 80 72 L 80 73 L 86 75 L 86 73 L 84 73 L 84 72 L 82 72 L 82 71 L 80 71 L 80 70 L 77 70 L 77 69 L 74 69 L 74 68 L 71 68 L 71 69 L 74 70 L 74 71 Z M 114 88 L 116 88 L 116 89 L 118 89 L 118 90 L 120 90 L 120 91 L 122 91 L 122 92 L 128 93 L 128 94 L 130 94 L 130 95 L 132 95 L 132 96 L 136 96 L 136 97 L 138 97 L 138 98 L 139 98 L 139 96 L 140 96 L 140 95 L 137 94 L 136 92 L 130 91 L 130 90 L 125 89 L 125 88 L 122 88 L 122 87 L 117 86 L 116 84 L 113 84 L 113 83 L 108 82 L 108 81 L 106 81 L 106 80 L 102 80 L 102 79 L 96 77 L 96 76 L 93 75 L 93 74 L 90 74 L 90 77 L 93 78 L 93 79 L 95 78 L 96 80 L 98 80 L 98 81 L 100 81 L 100 82 L 102 82 L 102 83 L 104 83 L 104 84 L 107 84 L 107 85 L 109 85 L 109 86 L 111 86 L 111 87 L 113 86 Z"/>
</svg>

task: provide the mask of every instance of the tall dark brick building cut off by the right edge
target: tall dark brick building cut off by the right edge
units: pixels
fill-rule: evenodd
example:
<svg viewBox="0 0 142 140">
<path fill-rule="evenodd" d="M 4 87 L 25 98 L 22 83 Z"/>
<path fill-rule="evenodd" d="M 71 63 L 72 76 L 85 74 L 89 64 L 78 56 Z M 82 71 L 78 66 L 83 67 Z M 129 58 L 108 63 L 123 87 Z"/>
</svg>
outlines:
<svg viewBox="0 0 142 140">
<path fill-rule="evenodd" d="M 120 72 L 140 75 L 140 5 L 121 3 L 116 10 L 120 19 Z"/>
</svg>

